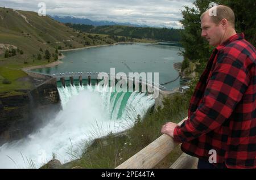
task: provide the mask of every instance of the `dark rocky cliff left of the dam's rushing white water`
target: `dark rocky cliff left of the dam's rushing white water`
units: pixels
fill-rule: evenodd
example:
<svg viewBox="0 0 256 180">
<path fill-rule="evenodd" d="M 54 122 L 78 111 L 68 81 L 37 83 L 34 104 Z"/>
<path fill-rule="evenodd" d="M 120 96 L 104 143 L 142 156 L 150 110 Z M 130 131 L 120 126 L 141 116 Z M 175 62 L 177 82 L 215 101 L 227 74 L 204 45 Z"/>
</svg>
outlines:
<svg viewBox="0 0 256 180">
<path fill-rule="evenodd" d="M 30 74 L 35 88 L 21 95 L 0 96 L 0 145 L 23 138 L 60 109 L 56 79 Z"/>
</svg>

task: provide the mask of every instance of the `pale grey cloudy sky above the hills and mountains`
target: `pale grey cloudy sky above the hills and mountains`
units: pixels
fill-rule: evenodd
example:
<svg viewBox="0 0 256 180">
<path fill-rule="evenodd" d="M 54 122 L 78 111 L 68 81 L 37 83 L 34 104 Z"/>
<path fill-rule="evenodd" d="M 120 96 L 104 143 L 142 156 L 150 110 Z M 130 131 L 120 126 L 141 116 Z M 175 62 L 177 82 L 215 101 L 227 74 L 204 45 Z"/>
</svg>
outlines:
<svg viewBox="0 0 256 180">
<path fill-rule="evenodd" d="M 38 12 L 39 2 L 46 3 L 48 15 L 181 28 L 181 10 L 193 0 L 1 0 L 0 6 Z"/>
</svg>

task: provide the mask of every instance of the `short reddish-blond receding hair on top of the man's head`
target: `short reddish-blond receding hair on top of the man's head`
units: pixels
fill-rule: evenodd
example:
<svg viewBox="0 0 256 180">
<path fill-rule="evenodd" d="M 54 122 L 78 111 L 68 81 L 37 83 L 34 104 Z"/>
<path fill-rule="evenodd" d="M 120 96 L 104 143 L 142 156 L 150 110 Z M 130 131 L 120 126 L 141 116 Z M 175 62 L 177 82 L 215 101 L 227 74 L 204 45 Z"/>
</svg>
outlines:
<svg viewBox="0 0 256 180">
<path fill-rule="evenodd" d="M 216 11 L 216 14 L 211 14 L 210 12 Z M 200 19 L 202 20 L 205 15 L 210 16 L 210 19 L 212 20 L 213 23 L 216 25 L 221 22 L 222 19 L 226 19 L 229 23 L 229 25 L 234 28 L 235 26 L 235 16 L 233 10 L 224 5 L 218 5 L 215 7 L 210 8 L 209 10 L 205 11 Z"/>
</svg>

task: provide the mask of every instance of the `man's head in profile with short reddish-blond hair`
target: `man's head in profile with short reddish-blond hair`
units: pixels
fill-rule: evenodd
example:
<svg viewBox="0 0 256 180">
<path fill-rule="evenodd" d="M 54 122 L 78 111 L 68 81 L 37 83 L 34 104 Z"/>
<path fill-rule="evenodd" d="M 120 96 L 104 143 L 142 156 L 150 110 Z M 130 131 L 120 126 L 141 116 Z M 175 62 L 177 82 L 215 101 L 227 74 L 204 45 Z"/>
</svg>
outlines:
<svg viewBox="0 0 256 180">
<path fill-rule="evenodd" d="M 216 9 L 214 9 L 216 8 Z M 216 15 L 209 12 L 216 11 Z M 201 36 L 209 41 L 210 45 L 220 45 L 234 31 L 234 12 L 227 6 L 218 5 L 210 8 L 201 15 Z"/>
</svg>

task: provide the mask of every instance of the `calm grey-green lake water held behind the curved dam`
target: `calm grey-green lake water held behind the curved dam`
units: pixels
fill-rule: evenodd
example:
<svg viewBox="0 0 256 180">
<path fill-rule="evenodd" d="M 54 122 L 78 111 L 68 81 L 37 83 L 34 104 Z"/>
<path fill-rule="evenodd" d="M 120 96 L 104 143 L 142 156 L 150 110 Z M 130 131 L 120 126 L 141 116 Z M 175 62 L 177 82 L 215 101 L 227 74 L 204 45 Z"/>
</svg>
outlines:
<svg viewBox="0 0 256 180">
<path fill-rule="evenodd" d="M 161 42 L 160 44 L 117 44 L 63 52 L 63 63 L 55 67 L 39 68 L 31 71 L 44 74 L 59 72 L 159 72 L 159 84 L 170 82 L 179 75 L 174 70 L 174 63 L 182 62 L 183 57 L 177 55 L 182 50 L 176 43 Z M 153 79 L 154 80 L 154 79 Z M 179 87 L 182 81 L 165 84 L 172 89 Z"/>
</svg>

